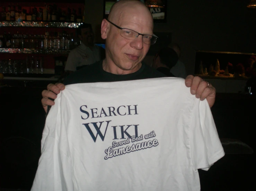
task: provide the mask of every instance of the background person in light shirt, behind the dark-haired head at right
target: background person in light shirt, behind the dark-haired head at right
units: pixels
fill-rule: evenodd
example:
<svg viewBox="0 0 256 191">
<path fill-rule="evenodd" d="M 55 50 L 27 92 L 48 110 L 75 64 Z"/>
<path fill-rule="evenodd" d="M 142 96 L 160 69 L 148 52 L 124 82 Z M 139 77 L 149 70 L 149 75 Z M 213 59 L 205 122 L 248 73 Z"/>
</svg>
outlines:
<svg viewBox="0 0 256 191">
<path fill-rule="evenodd" d="M 175 64 L 174 67 L 170 69 L 170 72 L 174 74 L 174 76 L 179 77 L 179 78 L 186 78 L 187 77 L 187 72 L 185 65 L 182 61 L 180 61 L 180 56 L 181 56 L 181 51 L 180 47 L 176 43 L 169 44 L 169 48 L 172 48 L 178 55 L 178 61 Z"/>
</svg>

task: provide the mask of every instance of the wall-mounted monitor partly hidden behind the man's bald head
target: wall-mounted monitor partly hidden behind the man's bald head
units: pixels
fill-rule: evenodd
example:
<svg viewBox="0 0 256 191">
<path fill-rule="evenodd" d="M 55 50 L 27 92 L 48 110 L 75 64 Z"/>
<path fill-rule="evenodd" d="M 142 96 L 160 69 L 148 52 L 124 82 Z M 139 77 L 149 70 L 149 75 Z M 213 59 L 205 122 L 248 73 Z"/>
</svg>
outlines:
<svg viewBox="0 0 256 191">
<path fill-rule="evenodd" d="M 104 0 L 104 18 L 108 18 L 112 5 L 119 0 Z M 138 0 L 139 1 L 139 0 Z M 167 21 L 167 0 L 140 0 L 149 8 L 154 22 Z"/>
</svg>

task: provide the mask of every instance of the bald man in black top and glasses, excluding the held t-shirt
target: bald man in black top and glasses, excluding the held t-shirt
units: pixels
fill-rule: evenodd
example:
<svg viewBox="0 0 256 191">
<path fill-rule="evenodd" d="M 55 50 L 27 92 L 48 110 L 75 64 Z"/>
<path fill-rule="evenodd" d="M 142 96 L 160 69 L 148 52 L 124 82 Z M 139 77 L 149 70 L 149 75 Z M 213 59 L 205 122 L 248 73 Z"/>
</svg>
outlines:
<svg viewBox="0 0 256 191">
<path fill-rule="evenodd" d="M 104 59 L 103 63 L 92 64 L 93 66 L 90 65 L 87 67 L 87 71 L 74 73 L 64 81 L 65 84 L 86 81 L 123 81 L 164 76 L 160 72 L 152 71 L 145 64 L 141 63 L 150 48 L 150 43 L 143 42 L 143 39 L 146 39 L 147 36 L 142 38 L 144 36 L 141 34 L 153 35 L 153 19 L 147 7 L 142 6 L 143 11 L 138 11 L 136 7 L 133 7 L 132 5 L 135 5 L 135 2 L 136 4 L 139 3 L 137 1 L 118 1 L 112 7 L 108 20 L 104 19 L 102 21 L 101 37 L 106 39 L 106 59 Z M 131 7 L 130 12 L 124 11 L 127 7 Z M 120 29 L 120 27 L 131 29 L 126 31 L 127 33 L 138 32 L 136 33 L 137 36 L 132 38 L 133 40 L 123 37 L 124 35 L 121 35 L 123 29 Z M 143 77 L 138 76 L 138 73 L 141 74 L 141 71 L 144 71 L 147 75 Z M 78 77 L 80 79 L 77 80 Z M 200 100 L 206 99 L 210 107 L 213 106 L 216 90 L 211 84 L 203 81 L 200 77 L 194 77 L 192 75 L 186 78 L 185 84 L 191 88 L 191 93 L 196 98 L 200 98 Z M 48 105 L 54 105 L 54 101 L 51 99 L 55 99 L 57 97 L 56 94 L 64 89 L 64 84 L 56 83 L 48 84 L 47 90 L 42 91 L 43 98 L 41 102 L 45 112 L 47 111 Z"/>
</svg>

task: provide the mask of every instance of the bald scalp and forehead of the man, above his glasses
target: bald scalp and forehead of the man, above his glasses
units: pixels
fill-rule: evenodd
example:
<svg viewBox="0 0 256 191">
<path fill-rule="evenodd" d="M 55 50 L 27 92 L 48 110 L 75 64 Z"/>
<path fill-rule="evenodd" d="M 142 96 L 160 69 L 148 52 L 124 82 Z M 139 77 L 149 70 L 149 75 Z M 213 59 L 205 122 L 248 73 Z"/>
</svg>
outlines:
<svg viewBox="0 0 256 191">
<path fill-rule="evenodd" d="M 124 17 L 145 19 L 152 25 L 153 30 L 152 14 L 148 7 L 139 0 L 120 0 L 113 4 L 108 20 L 119 24 Z"/>
</svg>

